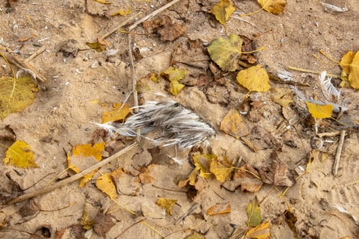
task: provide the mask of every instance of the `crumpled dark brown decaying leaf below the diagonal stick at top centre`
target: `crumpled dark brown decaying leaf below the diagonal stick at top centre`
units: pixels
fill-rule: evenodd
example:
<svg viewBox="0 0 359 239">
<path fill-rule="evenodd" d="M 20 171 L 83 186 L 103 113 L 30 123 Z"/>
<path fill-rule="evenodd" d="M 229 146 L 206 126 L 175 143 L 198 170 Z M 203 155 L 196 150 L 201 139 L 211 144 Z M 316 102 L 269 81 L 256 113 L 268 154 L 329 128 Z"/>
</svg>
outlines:
<svg viewBox="0 0 359 239">
<path fill-rule="evenodd" d="M 186 25 L 173 23 L 170 16 L 166 15 L 155 20 L 146 20 L 143 27 L 147 33 L 159 33 L 161 40 L 168 41 L 175 40 L 187 31 Z"/>
</svg>

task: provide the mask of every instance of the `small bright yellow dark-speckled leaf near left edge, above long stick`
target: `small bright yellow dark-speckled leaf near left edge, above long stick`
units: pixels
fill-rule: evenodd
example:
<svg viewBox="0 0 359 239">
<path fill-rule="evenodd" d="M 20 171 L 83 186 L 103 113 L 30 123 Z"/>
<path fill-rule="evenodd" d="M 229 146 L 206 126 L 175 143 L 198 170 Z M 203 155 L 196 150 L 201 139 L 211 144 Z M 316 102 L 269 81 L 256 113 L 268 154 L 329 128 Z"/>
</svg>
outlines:
<svg viewBox="0 0 359 239">
<path fill-rule="evenodd" d="M 30 146 L 27 145 L 25 141 L 20 140 L 16 140 L 8 150 L 6 150 L 3 163 L 5 163 L 5 165 L 22 167 L 24 169 L 38 167 L 34 162 L 34 154 L 32 153 Z"/>
</svg>

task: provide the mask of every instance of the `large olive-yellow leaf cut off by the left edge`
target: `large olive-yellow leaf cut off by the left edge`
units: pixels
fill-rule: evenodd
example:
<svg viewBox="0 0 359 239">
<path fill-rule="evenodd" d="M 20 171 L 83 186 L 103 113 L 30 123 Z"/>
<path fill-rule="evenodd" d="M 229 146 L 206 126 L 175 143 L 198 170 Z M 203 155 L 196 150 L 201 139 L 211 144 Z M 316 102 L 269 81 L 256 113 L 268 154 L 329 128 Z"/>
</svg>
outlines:
<svg viewBox="0 0 359 239">
<path fill-rule="evenodd" d="M 1 119 L 32 104 L 36 92 L 38 92 L 38 87 L 29 76 L 19 77 L 18 79 L 2 76 L 0 78 Z"/>
</svg>

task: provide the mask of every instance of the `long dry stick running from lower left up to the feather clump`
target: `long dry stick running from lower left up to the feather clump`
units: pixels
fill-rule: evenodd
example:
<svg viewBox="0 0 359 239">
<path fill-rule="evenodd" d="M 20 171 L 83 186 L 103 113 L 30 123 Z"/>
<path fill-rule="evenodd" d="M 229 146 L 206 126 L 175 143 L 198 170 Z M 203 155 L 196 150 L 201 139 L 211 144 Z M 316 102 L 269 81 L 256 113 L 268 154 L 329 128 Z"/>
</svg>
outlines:
<svg viewBox="0 0 359 239">
<path fill-rule="evenodd" d="M 129 152 L 129 150 L 131 150 L 133 147 L 135 147 L 135 145 L 137 145 L 137 142 L 132 143 L 131 145 L 129 145 L 127 147 L 124 147 L 122 150 L 120 150 L 116 154 L 109 156 L 108 158 L 106 158 L 105 160 L 102 160 L 99 163 L 96 163 L 96 165 L 92 165 L 88 169 L 85 169 L 85 170 L 81 171 L 80 173 L 72 175 L 70 178 L 66 178 L 66 180 L 62 180 L 61 182 L 58 182 L 57 184 L 54 184 L 52 186 L 47 186 L 47 187 L 41 188 L 38 191 L 25 193 L 24 195 L 16 197 L 16 199 L 12 199 L 11 201 L 8 202 L 8 204 L 17 203 L 19 201 L 23 201 L 23 200 L 29 199 L 31 197 L 36 197 L 36 196 L 42 195 L 44 193 L 49 193 L 56 188 L 61 188 L 62 186 L 65 186 L 66 184 L 74 182 L 74 181 L 78 180 L 79 178 L 82 178 L 84 175 L 87 175 L 87 174 L 91 173 L 92 171 L 94 171 L 100 167 L 103 167 L 103 165 L 106 165 L 107 163 L 111 162 L 112 160 L 118 158 L 118 156 L 121 156 L 122 154 Z"/>
</svg>

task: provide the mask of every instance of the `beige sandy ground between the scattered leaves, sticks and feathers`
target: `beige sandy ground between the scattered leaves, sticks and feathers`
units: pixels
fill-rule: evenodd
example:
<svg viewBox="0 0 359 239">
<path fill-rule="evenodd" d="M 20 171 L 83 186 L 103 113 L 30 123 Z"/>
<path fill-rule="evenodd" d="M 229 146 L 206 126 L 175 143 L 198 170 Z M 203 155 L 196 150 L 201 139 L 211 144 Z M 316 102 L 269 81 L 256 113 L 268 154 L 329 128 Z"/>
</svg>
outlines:
<svg viewBox="0 0 359 239">
<path fill-rule="evenodd" d="M 259 8 L 256 1 L 234 2 L 237 14 L 255 12 Z M 109 17 L 109 12 L 131 8 L 133 12 L 141 10 L 140 16 L 146 16 L 166 1 L 114 0 L 110 5 L 103 5 L 88 0 L 87 9 L 84 1 L 75 0 L 18 0 L 10 3 L 11 8 L 7 8 L 3 1 L 0 3 L 2 43 L 12 49 L 18 48 L 18 55 L 23 58 L 37 51 L 40 46 L 46 47 L 42 54 L 30 61 L 46 77 L 46 81 L 39 85 L 40 92 L 36 100 L 27 109 L 8 115 L 0 122 L 1 132 L 5 126 L 10 126 L 17 139 L 29 144 L 36 163 L 40 166 L 36 169 L 19 169 L 2 163 L 1 184 L 10 188 L 10 179 L 5 176 L 8 173 L 22 189 L 29 188 L 25 191 L 29 192 L 44 187 L 54 175 L 66 169 L 65 152 L 70 152 L 71 145 L 90 143 L 97 128 L 90 122 L 101 122 L 102 113 L 111 104 L 123 102 L 131 89 L 127 33 L 116 32 L 106 38 L 108 48 L 118 50 L 118 53 L 111 56 L 107 56 L 105 52 L 88 50 L 65 57 L 59 52 L 64 47 L 64 42 L 70 39 L 77 42 L 68 51 L 86 49 L 88 46 L 85 42 L 94 42 L 102 32 L 126 19 L 122 16 Z M 187 26 L 187 32 L 174 41 L 160 40 L 156 34 L 146 35 L 142 25 L 132 30 L 137 33 L 131 36 L 133 46 L 142 55 L 135 55 L 137 81 L 142 77 L 146 78 L 151 72 L 166 70 L 178 44 L 184 47 L 189 40 L 200 39 L 207 46 L 220 36 L 226 37 L 224 27 L 216 23 L 208 13 L 215 3 L 212 0 L 183 0 L 161 12 L 160 16 L 168 15 L 176 23 Z M 356 0 L 327 0 L 326 3 L 341 8 L 346 6 L 348 11 L 326 10 L 321 1 L 288 1 L 284 13 L 278 16 L 261 11 L 239 19 L 235 17 L 238 15 L 233 14 L 227 24 L 228 33 L 251 39 L 256 36 L 255 48 L 265 46 L 265 50 L 256 53 L 258 63 L 273 74 L 285 70 L 287 66 L 340 74 L 338 66 L 324 57 L 320 57 L 323 61 L 319 61 L 313 54 L 320 55 L 319 50 L 323 49 L 334 59 L 341 59 L 349 50 L 358 51 L 359 5 Z M 21 42 L 24 38 L 30 39 Z M 185 50 L 181 50 L 181 47 L 179 49 L 177 61 L 180 59 L 190 63 L 193 59 L 198 59 L 196 57 L 208 59 L 205 54 L 198 55 L 189 50 L 186 55 L 181 52 Z M 178 96 L 172 96 L 167 90 L 168 81 L 160 79 L 159 83 L 148 81 L 148 88 L 139 95 L 140 102 L 153 99 L 155 92 L 161 92 L 189 107 L 213 125 L 217 132 L 217 136 L 210 141 L 210 151 L 217 156 L 241 158 L 239 165 L 247 163 L 257 168 L 271 165 L 272 152 L 279 142 L 282 146 L 278 158 L 284 167 L 291 171 L 298 169 L 298 166 L 306 167 L 309 153 L 313 150 L 311 137 L 315 132 L 313 124 L 305 119 L 308 115 L 306 108 L 293 102 L 288 109 L 282 110 L 282 107 L 269 100 L 271 92 L 251 93 L 252 99 L 263 102 L 258 120 L 243 116 L 250 131 L 248 139 L 258 148 L 258 152 L 252 152 L 241 141 L 220 130 L 220 123 L 226 113 L 230 109 L 238 109 L 247 91 L 235 81 L 235 74 L 225 74 L 224 83 L 199 87 L 200 74 L 208 75 L 209 81 L 213 81 L 208 61 L 205 62 L 204 68 L 176 64 L 178 68 L 191 70 L 191 75 L 185 79 L 187 86 Z M 298 86 L 306 96 L 322 97 L 317 75 L 292 73 L 295 81 L 308 85 Z M 7 72 L 2 70 L 1 74 Z M 340 83 L 339 80 L 333 82 L 334 85 Z M 271 87 L 289 87 L 278 81 L 271 81 L 270 84 Z M 341 97 L 341 102 L 346 102 L 349 109 L 348 115 L 358 116 L 357 92 L 351 88 L 343 88 Z M 132 96 L 129 104 L 133 105 Z M 289 125 L 286 115 L 300 119 L 287 131 L 279 127 L 281 122 L 285 126 Z M 319 122 L 319 132 L 336 130 L 341 128 L 336 127 L 334 121 Z M 170 235 L 168 238 L 185 238 L 197 231 L 204 238 L 241 238 L 233 235 L 233 232 L 236 228 L 246 228 L 246 208 L 250 199 L 256 197 L 261 202 L 262 219 L 270 221 L 270 238 L 357 238 L 358 225 L 351 216 L 338 212 L 333 206 L 340 204 L 354 216 L 359 216 L 358 133 L 352 129 L 347 130 L 336 177 L 332 168 L 338 135 L 326 139 L 332 141 L 319 148 L 320 154 L 325 156 L 315 156 L 308 173 L 298 178 L 284 197 L 280 197 L 286 189 L 283 186 L 265 184 L 256 193 L 245 193 L 240 188 L 228 191 L 215 178 L 199 178 L 196 184 L 197 195 L 191 197 L 187 192 L 188 188 L 177 186 L 178 180 L 185 179 L 191 172 L 189 161 L 185 160 L 183 165 L 174 163 L 167 156 L 174 155 L 174 149 L 163 149 L 150 154 L 148 148 L 152 146 L 143 140 L 131 152 L 100 169 L 101 173 L 107 173 L 122 167 L 129 173 L 128 180 L 118 185 L 127 193 L 119 195 L 116 200 L 127 210 L 99 191 L 94 180 L 84 188 L 79 188 L 77 182 L 73 182 L 36 197 L 35 203 L 40 210 L 36 214 L 29 213 L 30 217 L 27 219 L 24 219 L 27 214 L 21 213 L 20 209 L 33 201 L 1 205 L 0 237 L 56 238 L 57 235 L 57 238 L 162 238 Z M 118 147 L 129 145 L 132 141 L 133 139 L 122 139 Z M 5 150 L 6 148 L 0 147 L 1 158 Z M 203 150 L 207 152 L 209 149 Z M 187 156 L 187 153 L 183 154 Z M 140 183 L 140 172 L 137 169 L 147 167 L 148 164 L 148 173 L 153 180 L 150 183 Z M 72 171 L 68 171 L 62 178 L 72 174 Z M 45 175 L 47 176 L 44 177 Z M 94 178 L 99 175 L 101 174 L 96 173 Z M 294 175 L 297 176 L 295 173 Z M 34 185 L 36 182 L 38 184 Z M 159 197 L 177 199 L 172 215 L 166 214 L 163 208 L 156 205 Z M 184 220 L 175 223 L 195 203 L 196 208 Z M 231 212 L 207 216 L 207 210 L 216 203 L 230 203 Z M 64 208 L 68 205 L 68 208 Z M 105 236 L 98 235 L 94 229 L 81 229 L 79 222 L 84 207 L 92 219 L 96 214 L 111 214 L 107 219 L 112 220 L 114 226 Z M 64 209 L 56 210 L 59 208 Z M 128 210 L 137 214 L 133 215 Z M 288 223 L 290 220 L 284 215 L 286 210 L 292 210 L 297 219 L 292 229 L 291 223 Z M 141 223 L 137 223 L 139 221 Z M 104 222 L 100 221 L 97 227 L 104 227 L 101 223 Z"/>
</svg>

